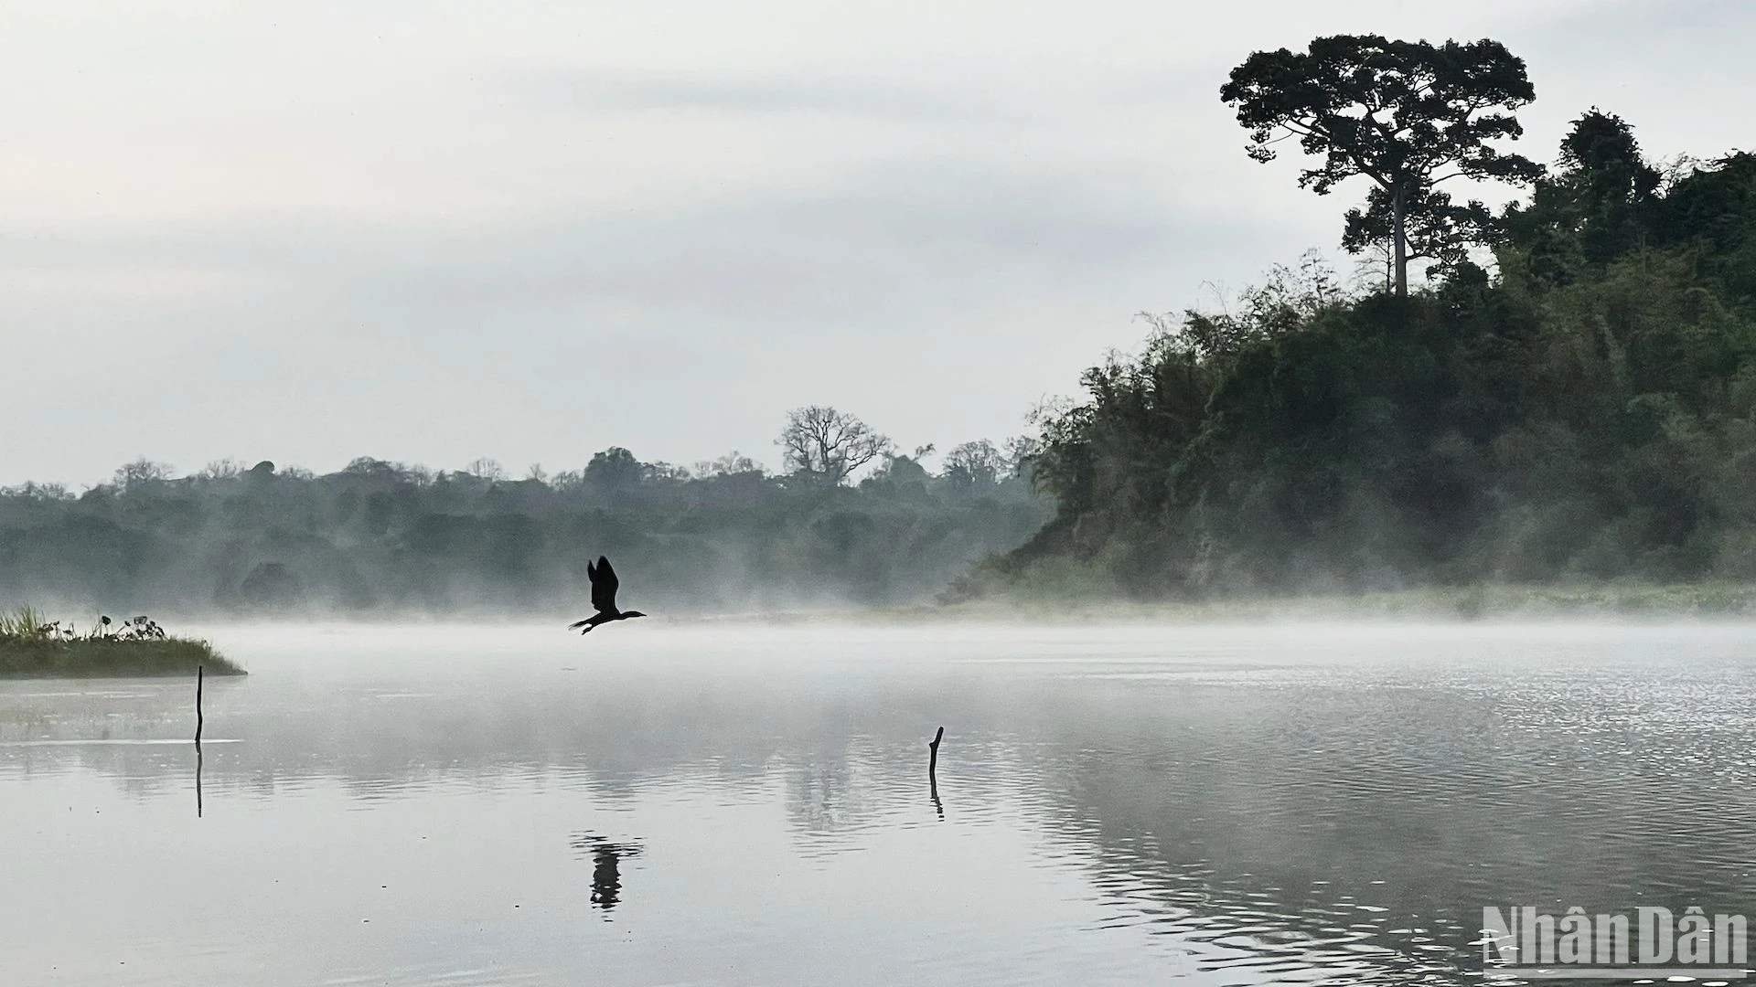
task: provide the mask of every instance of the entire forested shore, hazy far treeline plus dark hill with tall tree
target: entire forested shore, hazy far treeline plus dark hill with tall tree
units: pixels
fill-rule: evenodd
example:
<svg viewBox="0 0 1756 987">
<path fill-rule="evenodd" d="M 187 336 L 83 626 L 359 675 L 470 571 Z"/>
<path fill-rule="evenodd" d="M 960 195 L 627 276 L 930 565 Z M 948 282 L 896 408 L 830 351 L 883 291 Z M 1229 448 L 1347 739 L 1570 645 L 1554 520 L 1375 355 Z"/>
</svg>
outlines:
<svg viewBox="0 0 1756 987">
<path fill-rule="evenodd" d="M 1371 285 L 1306 256 L 1229 309 L 1152 316 L 1004 451 L 929 474 L 802 407 L 780 474 L 618 448 L 525 479 L 142 460 L 0 492 L 0 599 L 539 609 L 583 601 L 597 553 L 627 606 L 718 611 L 1756 581 L 1756 155 L 1656 167 L 1598 109 L 1551 167 L 1514 155 L 1535 88 L 1493 40 L 1322 37 L 1252 54 L 1220 98 L 1250 158 L 1364 186 L 1342 246 L 1382 263 Z M 1496 211 L 1457 181 L 1526 193 Z"/>
</svg>

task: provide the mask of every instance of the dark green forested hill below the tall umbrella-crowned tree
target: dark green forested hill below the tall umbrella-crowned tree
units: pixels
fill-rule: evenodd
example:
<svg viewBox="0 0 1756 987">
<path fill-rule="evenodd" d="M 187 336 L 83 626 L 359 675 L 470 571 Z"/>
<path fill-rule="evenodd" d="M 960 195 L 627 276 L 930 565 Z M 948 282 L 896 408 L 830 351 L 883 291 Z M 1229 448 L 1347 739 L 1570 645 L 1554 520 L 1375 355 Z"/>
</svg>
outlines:
<svg viewBox="0 0 1756 987">
<path fill-rule="evenodd" d="M 1087 371 L 1055 518 L 962 592 L 1756 578 L 1756 155 L 1661 170 L 1594 109 L 1526 202 L 1407 225 L 1426 290 L 1308 262 Z"/>
</svg>

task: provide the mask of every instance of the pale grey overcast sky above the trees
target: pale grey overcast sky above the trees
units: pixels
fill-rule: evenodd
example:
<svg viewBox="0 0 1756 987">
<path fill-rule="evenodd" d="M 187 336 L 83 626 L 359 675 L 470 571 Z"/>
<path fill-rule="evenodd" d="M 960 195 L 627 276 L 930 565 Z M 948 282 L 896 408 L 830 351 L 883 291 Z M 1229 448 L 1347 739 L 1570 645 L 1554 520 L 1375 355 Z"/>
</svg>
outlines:
<svg viewBox="0 0 1756 987">
<path fill-rule="evenodd" d="M 1744 0 L 7 4 L 0 485 L 999 441 L 1133 313 L 1335 251 L 1364 190 L 1217 90 L 1340 32 L 1505 42 L 1538 160 L 1593 104 L 1756 146 Z"/>
</svg>

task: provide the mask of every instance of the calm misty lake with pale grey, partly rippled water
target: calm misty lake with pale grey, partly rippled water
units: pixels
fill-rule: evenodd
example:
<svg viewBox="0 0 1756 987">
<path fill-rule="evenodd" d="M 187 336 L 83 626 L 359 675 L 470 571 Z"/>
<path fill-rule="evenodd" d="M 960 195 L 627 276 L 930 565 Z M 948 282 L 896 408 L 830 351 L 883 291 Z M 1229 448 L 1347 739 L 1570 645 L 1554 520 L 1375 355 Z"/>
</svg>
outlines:
<svg viewBox="0 0 1756 987">
<path fill-rule="evenodd" d="M 1480 983 L 1482 906 L 1756 913 L 1747 627 L 207 632 L 200 792 L 193 683 L 0 683 L 0 983 Z"/>
</svg>

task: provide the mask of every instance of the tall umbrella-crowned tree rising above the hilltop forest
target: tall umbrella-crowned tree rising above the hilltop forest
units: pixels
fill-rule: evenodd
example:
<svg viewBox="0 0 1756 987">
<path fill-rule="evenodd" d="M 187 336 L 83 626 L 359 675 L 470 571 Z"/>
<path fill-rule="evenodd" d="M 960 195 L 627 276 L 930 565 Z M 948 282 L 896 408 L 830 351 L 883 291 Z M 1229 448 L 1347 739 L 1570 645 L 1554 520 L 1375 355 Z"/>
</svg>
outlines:
<svg viewBox="0 0 1756 987">
<path fill-rule="evenodd" d="M 1377 184 L 1361 216 L 1389 230 L 1398 295 L 1408 293 L 1410 218 L 1450 221 L 1431 209 L 1436 184 L 1542 177 L 1542 165 L 1489 144 L 1524 133 L 1512 112 L 1536 98 L 1524 60 L 1496 40 L 1319 37 L 1306 53 L 1250 54 L 1219 93 L 1250 132 L 1250 158 L 1275 160 L 1275 144 L 1289 137 L 1322 156 L 1321 167 L 1299 172 L 1299 188 L 1328 195 L 1354 176 Z"/>
</svg>

